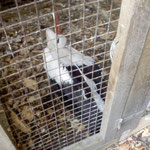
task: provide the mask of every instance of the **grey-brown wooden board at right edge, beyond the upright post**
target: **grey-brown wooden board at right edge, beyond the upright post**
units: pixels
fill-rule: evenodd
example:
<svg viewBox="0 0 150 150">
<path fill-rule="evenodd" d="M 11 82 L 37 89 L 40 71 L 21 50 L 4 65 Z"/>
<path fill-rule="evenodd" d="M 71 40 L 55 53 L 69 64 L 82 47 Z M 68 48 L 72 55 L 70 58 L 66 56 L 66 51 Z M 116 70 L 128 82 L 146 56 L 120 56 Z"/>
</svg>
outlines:
<svg viewBox="0 0 150 150">
<path fill-rule="evenodd" d="M 121 136 L 124 131 L 132 131 L 143 115 L 148 104 L 148 93 L 150 89 L 150 30 L 146 39 L 145 47 L 137 68 L 135 79 L 126 102 L 122 115 L 123 123 L 117 136 Z"/>
</svg>

